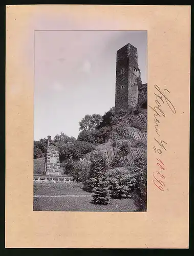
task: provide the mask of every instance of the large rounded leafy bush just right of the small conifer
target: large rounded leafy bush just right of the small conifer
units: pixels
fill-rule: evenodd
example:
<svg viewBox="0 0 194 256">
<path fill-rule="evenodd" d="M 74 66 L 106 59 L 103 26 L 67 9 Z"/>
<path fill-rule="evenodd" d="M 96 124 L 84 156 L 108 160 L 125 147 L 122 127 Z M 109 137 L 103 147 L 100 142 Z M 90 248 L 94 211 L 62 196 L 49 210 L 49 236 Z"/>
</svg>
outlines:
<svg viewBox="0 0 194 256">
<path fill-rule="evenodd" d="M 106 177 L 113 198 L 131 196 L 136 180 L 127 168 L 110 169 Z"/>
</svg>

